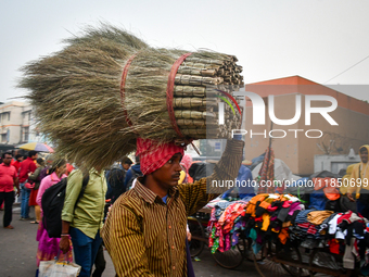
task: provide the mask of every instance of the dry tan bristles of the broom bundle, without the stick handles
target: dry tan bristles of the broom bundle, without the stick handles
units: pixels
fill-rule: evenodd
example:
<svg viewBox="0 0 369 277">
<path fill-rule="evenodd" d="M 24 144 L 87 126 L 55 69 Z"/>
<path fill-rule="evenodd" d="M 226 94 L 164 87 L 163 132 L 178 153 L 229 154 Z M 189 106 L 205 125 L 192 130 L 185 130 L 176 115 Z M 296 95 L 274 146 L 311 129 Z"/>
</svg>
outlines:
<svg viewBox="0 0 369 277">
<path fill-rule="evenodd" d="M 168 116 L 166 87 L 171 65 L 187 51 L 150 48 L 107 24 L 87 27 L 84 35 L 64 42 L 62 51 L 22 67 L 18 84 L 30 90 L 27 98 L 40 131 L 56 144 L 60 155 L 79 166 L 104 168 L 133 151 L 139 136 L 163 143 L 178 137 Z M 124 100 L 129 126 L 120 103 L 120 78 L 133 54 Z M 199 51 L 191 59 L 232 58 Z"/>
</svg>

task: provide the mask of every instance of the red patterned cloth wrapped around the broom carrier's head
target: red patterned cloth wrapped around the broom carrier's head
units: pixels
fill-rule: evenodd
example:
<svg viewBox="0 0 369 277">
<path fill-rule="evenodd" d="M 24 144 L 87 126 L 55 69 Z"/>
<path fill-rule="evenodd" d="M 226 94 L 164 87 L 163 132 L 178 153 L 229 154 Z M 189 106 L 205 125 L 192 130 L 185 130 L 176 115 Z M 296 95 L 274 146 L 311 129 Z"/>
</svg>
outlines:
<svg viewBox="0 0 369 277">
<path fill-rule="evenodd" d="M 176 146 L 174 142 L 158 143 L 152 139 L 137 139 L 136 155 L 140 156 L 140 167 L 143 175 L 149 175 L 161 168 L 176 153 L 183 155 L 183 147 Z"/>
</svg>

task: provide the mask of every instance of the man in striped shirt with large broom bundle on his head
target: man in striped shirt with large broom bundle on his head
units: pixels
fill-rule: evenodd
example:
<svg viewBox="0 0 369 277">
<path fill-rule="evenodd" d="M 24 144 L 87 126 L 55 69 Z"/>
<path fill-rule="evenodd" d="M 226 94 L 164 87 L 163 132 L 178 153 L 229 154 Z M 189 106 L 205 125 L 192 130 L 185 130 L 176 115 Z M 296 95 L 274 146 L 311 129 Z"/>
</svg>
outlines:
<svg viewBox="0 0 369 277">
<path fill-rule="evenodd" d="M 18 86 L 30 90 L 40 130 L 68 160 L 104 168 L 138 142 L 144 176 L 114 203 L 102 234 L 118 276 L 186 275 L 186 217 L 228 189 L 212 185 L 234 180 L 243 143 L 229 142 L 211 177 L 178 186 L 183 148 L 163 142 L 206 138 L 207 126 L 224 138 L 241 125 L 232 98 L 240 114 L 226 109 L 227 126 L 217 126 L 220 95 L 229 98 L 230 86 L 243 85 L 237 61 L 214 51 L 153 48 L 103 24 L 22 68 Z"/>
</svg>

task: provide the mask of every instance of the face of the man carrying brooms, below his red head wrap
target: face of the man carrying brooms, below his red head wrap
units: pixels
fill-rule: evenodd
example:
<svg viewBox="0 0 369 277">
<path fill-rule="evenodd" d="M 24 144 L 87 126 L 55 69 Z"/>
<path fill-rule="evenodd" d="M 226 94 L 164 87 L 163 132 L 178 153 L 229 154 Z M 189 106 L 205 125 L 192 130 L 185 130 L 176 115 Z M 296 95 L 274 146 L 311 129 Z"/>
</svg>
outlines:
<svg viewBox="0 0 369 277">
<path fill-rule="evenodd" d="M 167 189 L 177 186 L 182 169 L 179 164 L 181 159 L 180 153 L 174 154 L 161 168 L 152 173 L 154 179 Z"/>
</svg>

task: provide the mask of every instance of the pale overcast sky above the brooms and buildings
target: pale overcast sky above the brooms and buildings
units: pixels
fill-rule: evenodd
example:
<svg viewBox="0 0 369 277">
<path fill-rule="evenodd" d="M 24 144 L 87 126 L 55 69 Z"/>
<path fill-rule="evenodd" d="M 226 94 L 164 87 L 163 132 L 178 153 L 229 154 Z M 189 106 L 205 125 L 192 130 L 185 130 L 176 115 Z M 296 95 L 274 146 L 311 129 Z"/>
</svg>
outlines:
<svg viewBox="0 0 369 277">
<path fill-rule="evenodd" d="M 22 65 L 99 21 L 152 46 L 234 54 L 246 84 L 300 75 L 326 85 L 369 85 L 368 0 L 0 1 L 2 102 L 26 93 L 15 88 Z M 362 90 L 346 93 L 369 100 Z"/>
</svg>

